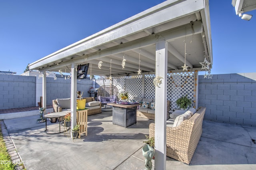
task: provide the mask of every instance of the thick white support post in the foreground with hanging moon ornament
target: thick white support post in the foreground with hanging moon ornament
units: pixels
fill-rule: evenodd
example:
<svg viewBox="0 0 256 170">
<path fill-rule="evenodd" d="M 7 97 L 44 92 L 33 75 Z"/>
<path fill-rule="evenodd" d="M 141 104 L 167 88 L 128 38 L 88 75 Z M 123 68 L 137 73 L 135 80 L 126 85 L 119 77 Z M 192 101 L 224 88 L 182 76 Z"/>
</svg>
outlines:
<svg viewBox="0 0 256 170">
<path fill-rule="evenodd" d="M 167 56 L 168 43 L 156 43 L 156 77 L 162 77 L 160 88 L 156 87 L 155 118 L 155 169 L 166 170 L 166 106 L 167 106 Z"/>
</svg>

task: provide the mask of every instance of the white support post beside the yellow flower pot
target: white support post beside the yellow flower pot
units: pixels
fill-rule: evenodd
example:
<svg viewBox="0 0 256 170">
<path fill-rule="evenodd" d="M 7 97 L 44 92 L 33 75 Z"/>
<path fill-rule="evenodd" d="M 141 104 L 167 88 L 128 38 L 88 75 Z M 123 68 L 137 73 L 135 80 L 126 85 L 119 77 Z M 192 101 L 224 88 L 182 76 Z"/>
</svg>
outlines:
<svg viewBox="0 0 256 170">
<path fill-rule="evenodd" d="M 70 126 L 71 129 L 76 126 L 76 80 L 77 80 L 77 73 L 76 73 L 76 64 L 71 64 L 71 121 Z M 72 130 L 70 131 L 72 133 Z M 72 135 L 72 134 L 71 134 Z"/>
</svg>

